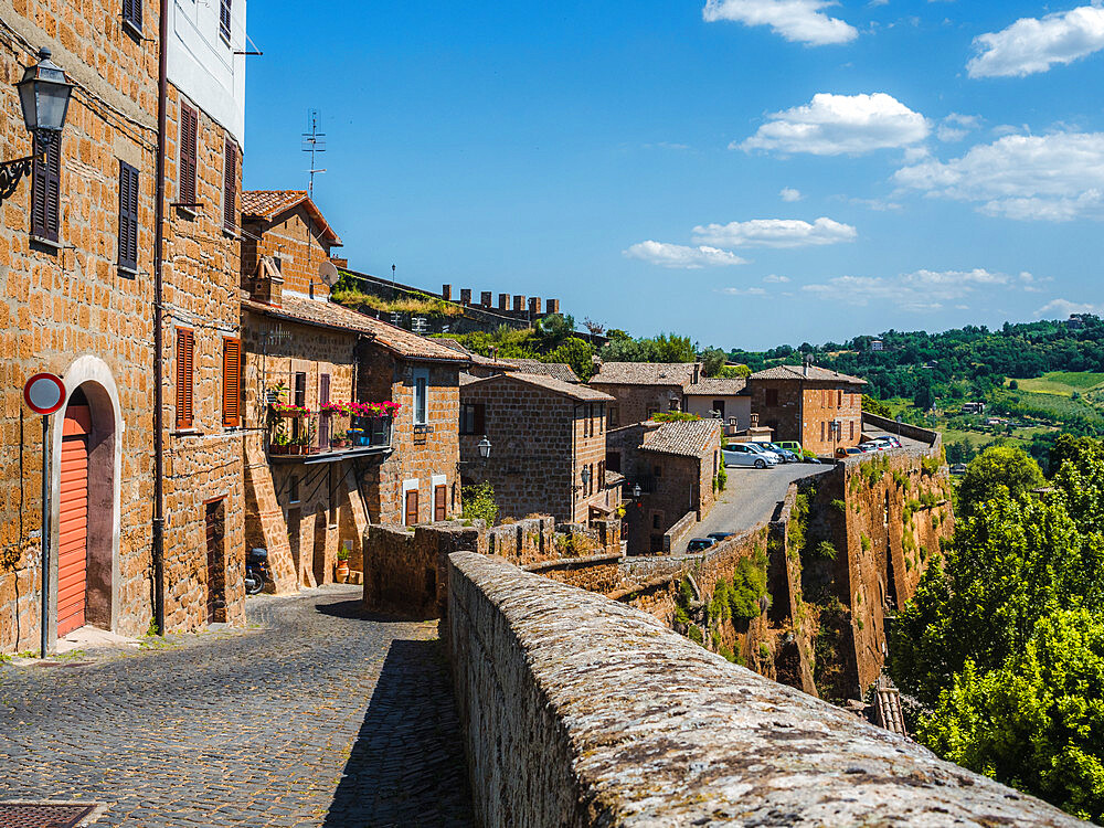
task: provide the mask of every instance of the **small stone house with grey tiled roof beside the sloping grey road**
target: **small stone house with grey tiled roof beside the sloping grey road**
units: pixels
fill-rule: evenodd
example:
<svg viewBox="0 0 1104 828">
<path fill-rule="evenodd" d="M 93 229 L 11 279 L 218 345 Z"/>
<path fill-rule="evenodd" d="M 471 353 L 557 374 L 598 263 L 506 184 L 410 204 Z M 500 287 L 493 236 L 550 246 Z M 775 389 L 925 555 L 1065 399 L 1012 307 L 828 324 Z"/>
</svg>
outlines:
<svg viewBox="0 0 1104 828">
<path fill-rule="evenodd" d="M 713 508 L 720 452 L 720 420 L 609 429 L 606 468 L 624 475 L 627 490 L 640 487 L 625 516 L 629 554 L 670 552 L 672 528 L 692 526 Z"/>
</svg>

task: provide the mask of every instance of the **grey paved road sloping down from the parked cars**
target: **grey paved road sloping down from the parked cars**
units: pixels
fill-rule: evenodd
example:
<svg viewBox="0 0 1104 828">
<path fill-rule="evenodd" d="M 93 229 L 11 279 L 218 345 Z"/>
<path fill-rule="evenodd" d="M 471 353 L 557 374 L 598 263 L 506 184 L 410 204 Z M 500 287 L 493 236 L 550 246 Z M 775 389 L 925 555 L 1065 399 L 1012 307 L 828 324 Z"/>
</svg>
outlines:
<svg viewBox="0 0 1104 828">
<path fill-rule="evenodd" d="M 789 463 L 766 469 L 730 466 L 725 469 L 729 484 L 716 505 L 672 552 L 686 553 L 691 538 L 704 538 L 710 532 L 743 532 L 769 520 L 778 501 L 786 498 L 789 484 L 830 468 L 808 463 Z"/>
</svg>

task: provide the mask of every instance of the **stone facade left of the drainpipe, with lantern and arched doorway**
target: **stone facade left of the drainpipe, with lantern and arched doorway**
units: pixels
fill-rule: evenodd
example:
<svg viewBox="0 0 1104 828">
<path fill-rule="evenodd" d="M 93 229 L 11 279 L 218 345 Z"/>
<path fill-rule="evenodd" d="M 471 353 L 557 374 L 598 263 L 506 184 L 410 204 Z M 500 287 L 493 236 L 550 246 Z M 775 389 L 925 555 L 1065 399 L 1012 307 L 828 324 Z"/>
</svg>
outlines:
<svg viewBox="0 0 1104 828">
<path fill-rule="evenodd" d="M 142 13 L 156 31 L 157 3 L 145 0 Z M 152 269 L 157 45 L 123 32 L 115 0 L 0 0 L 0 19 L 18 33 L 0 32 L 0 158 L 31 153 L 12 84 L 35 60 L 38 46 L 49 46 L 54 62 L 79 84 L 61 137 L 63 246 L 30 237 L 30 178 L 0 208 L 0 652 L 12 652 L 38 646 L 42 584 L 41 426 L 23 405 L 21 390 L 39 371 L 65 378 L 77 360 L 96 361 L 117 391 L 110 406 L 94 407 L 94 428 L 112 428 L 118 415 L 126 429 L 116 435 L 121 442 L 119 581 L 113 584 L 117 613 L 110 625 L 138 635 L 152 617 L 152 284 L 146 274 Z M 117 264 L 119 160 L 139 172 L 139 278 L 120 274 Z M 52 426 L 62 416 L 54 415 Z M 55 453 L 57 434 L 51 436 Z M 56 590 L 56 496 L 53 503 L 51 581 Z"/>
</svg>

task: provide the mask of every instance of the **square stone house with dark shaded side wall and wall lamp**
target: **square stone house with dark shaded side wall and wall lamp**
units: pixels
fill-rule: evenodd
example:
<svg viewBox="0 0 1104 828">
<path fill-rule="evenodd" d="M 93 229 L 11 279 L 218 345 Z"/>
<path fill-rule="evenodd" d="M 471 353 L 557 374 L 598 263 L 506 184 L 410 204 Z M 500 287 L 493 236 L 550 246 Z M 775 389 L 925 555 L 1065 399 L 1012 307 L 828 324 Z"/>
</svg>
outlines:
<svg viewBox="0 0 1104 828">
<path fill-rule="evenodd" d="M 460 386 L 465 484 L 489 482 L 503 518 L 606 518 L 620 502 L 606 482 L 606 405 L 613 397 L 551 376 L 510 372 Z M 490 457 L 479 455 L 484 437 Z"/>
</svg>

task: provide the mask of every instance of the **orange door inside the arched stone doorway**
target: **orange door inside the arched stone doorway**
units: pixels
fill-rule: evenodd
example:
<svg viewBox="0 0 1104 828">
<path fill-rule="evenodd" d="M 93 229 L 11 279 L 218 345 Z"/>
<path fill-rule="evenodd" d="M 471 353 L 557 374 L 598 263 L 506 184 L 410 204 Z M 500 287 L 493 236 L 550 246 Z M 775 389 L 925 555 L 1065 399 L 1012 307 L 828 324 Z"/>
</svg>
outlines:
<svg viewBox="0 0 1104 828">
<path fill-rule="evenodd" d="M 70 405 L 62 429 L 62 475 L 57 505 L 57 635 L 84 626 L 88 566 L 87 405 Z"/>
</svg>

